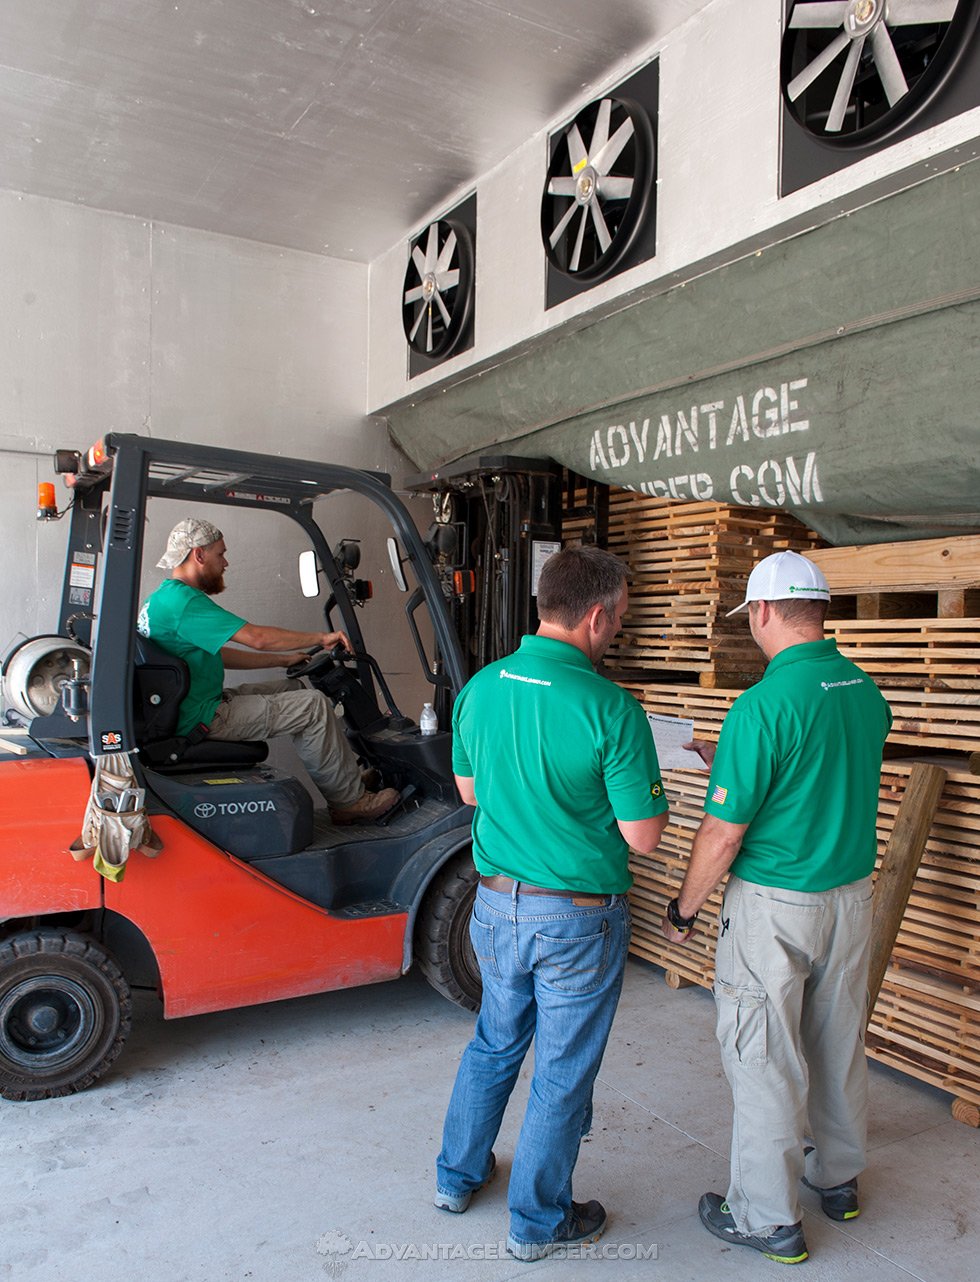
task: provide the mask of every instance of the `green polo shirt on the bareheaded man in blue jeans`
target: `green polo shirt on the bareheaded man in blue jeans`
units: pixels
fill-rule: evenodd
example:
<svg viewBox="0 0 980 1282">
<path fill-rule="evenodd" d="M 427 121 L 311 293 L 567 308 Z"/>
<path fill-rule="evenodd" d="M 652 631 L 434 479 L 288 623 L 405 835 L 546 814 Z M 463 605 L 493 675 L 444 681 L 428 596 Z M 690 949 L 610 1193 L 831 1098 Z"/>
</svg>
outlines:
<svg viewBox="0 0 980 1282">
<path fill-rule="evenodd" d="M 475 781 L 481 873 L 620 895 L 632 883 L 616 820 L 667 809 L 643 709 L 581 650 L 526 636 L 453 710 L 453 770 Z"/>
</svg>

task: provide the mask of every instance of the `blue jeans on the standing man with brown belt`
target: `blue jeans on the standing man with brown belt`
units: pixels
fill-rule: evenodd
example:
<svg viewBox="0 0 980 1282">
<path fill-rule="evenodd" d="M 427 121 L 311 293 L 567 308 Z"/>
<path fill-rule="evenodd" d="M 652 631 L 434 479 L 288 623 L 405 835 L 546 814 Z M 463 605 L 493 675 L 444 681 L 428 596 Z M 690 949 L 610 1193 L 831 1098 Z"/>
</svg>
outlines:
<svg viewBox="0 0 980 1282">
<path fill-rule="evenodd" d="M 480 886 L 469 923 L 484 1001 L 463 1051 L 436 1185 L 478 1188 L 521 1064 L 535 1042 L 531 1095 L 511 1168 L 511 1236 L 552 1242 L 568 1219 L 572 1170 L 591 1126 L 593 1085 L 622 988 L 630 912 Z"/>
</svg>

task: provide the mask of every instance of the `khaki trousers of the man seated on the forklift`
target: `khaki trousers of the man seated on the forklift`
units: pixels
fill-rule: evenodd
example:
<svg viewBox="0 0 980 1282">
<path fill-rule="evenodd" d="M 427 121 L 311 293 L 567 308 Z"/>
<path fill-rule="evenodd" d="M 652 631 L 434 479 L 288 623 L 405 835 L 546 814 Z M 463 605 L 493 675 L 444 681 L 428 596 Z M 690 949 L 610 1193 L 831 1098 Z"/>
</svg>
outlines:
<svg viewBox="0 0 980 1282">
<path fill-rule="evenodd" d="M 208 728 L 209 738 L 277 735 L 289 735 L 327 801 L 350 805 L 363 794 L 360 769 L 334 705 L 299 681 L 254 682 L 223 691 Z"/>
</svg>

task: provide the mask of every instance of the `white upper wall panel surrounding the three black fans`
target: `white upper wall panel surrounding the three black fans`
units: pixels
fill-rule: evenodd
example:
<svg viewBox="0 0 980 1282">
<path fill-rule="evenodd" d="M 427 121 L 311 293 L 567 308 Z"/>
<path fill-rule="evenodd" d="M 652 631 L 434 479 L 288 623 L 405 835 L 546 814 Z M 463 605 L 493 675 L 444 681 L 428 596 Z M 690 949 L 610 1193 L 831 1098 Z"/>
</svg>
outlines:
<svg viewBox="0 0 980 1282">
<path fill-rule="evenodd" d="M 957 155 L 949 155 L 953 149 L 959 149 L 958 159 L 976 155 L 980 110 L 780 199 L 781 14 L 782 0 L 716 0 L 658 44 L 632 54 L 607 82 L 589 86 L 548 129 L 477 181 L 472 350 L 409 381 L 400 309 L 407 241 L 376 259 L 371 268 L 369 409 L 381 413 L 399 401 L 422 399 L 427 390 L 458 381 L 632 291 L 657 292 L 690 278 L 699 264 L 723 260 L 727 249 L 745 241 L 777 241 L 785 235 L 781 227 L 800 229 L 798 221 L 806 222 L 809 212 L 818 212 L 812 221 L 821 223 L 858 208 L 870 199 L 872 185 L 909 165 L 918 165 L 918 172 L 907 181 L 921 181 L 933 172 L 931 158 L 939 168 L 949 168 L 958 163 Z M 548 138 L 654 55 L 661 74 L 657 256 L 545 312 L 539 217 Z M 422 226 L 472 190 L 460 190 L 431 210 Z"/>
</svg>

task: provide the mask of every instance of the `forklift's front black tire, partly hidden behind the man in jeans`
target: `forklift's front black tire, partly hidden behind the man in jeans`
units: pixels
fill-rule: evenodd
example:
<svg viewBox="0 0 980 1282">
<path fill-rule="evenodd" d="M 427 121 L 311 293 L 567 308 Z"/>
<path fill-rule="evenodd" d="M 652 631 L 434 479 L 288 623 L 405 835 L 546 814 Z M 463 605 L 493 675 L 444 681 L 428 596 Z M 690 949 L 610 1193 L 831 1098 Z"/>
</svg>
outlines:
<svg viewBox="0 0 980 1282">
<path fill-rule="evenodd" d="M 416 922 L 416 960 L 422 974 L 436 992 L 466 1010 L 478 1010 L 484 994 L 469 942 L 477 876 L 468 850 L 454 855 L 428 887 Z"/>
</svg>

